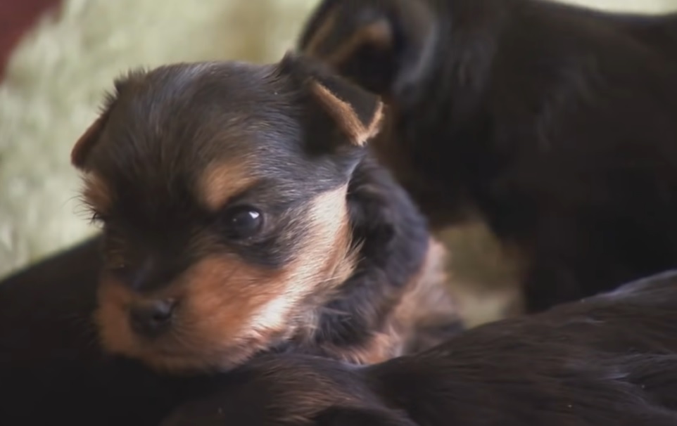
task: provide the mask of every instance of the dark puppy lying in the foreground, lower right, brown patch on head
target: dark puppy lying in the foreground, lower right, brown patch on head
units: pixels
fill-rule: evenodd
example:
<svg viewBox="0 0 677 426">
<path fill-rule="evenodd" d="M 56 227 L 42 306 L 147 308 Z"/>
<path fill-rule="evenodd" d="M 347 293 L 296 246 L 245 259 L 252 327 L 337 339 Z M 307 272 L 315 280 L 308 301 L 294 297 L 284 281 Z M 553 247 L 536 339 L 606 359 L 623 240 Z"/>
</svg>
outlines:
<svg viewBox="0 0 677 426">
<path fill-rule="evenodd" d="M 163 426 L 677 424 L 677 271 L 355 367 L 255 360 Z"/>
</svg>

